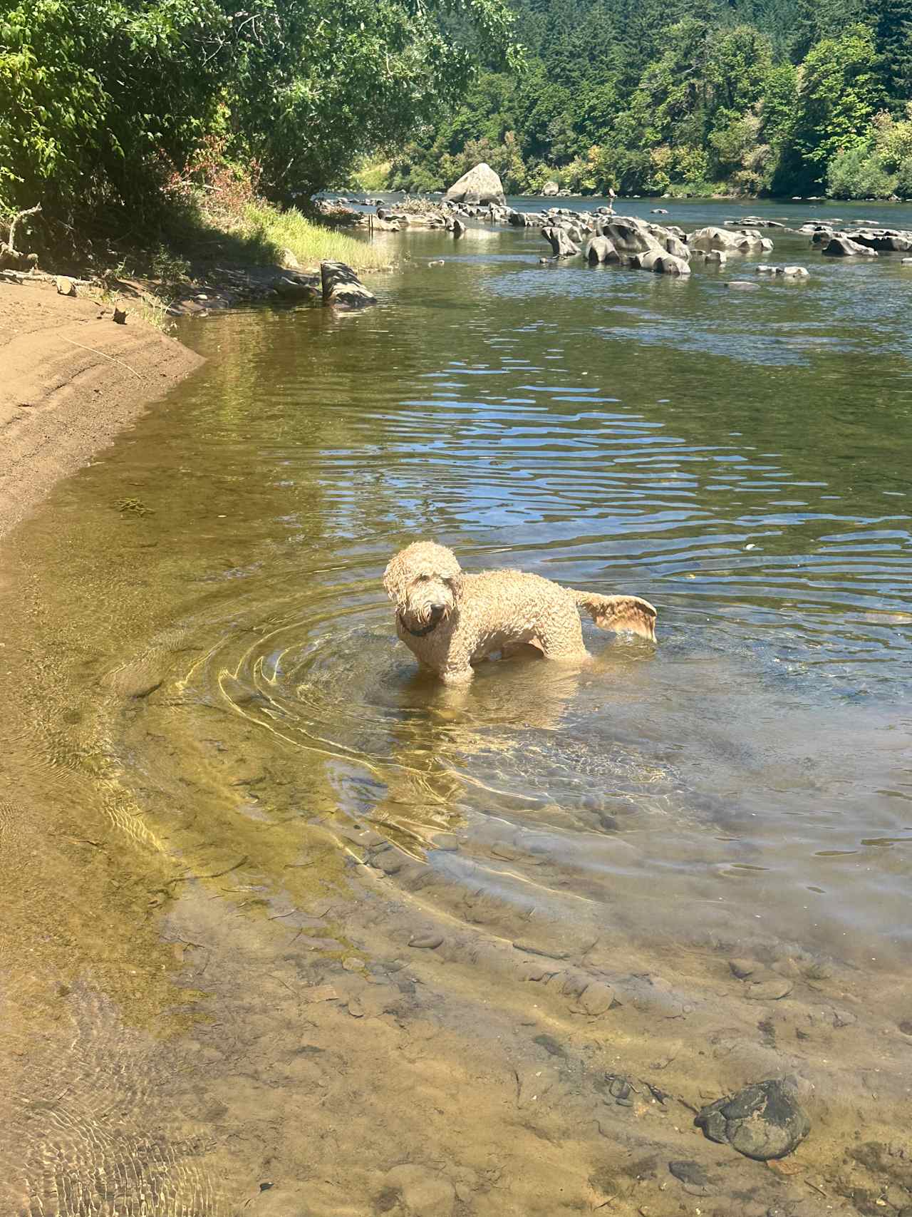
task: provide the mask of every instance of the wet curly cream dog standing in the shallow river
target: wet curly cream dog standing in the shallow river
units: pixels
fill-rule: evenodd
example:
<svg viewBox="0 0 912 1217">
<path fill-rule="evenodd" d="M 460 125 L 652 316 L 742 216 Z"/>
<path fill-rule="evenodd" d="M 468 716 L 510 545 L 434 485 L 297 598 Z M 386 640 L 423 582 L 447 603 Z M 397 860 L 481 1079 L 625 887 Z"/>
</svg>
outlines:
<svg viewBox="0 0 912 1217">
<path fill-rule="evenodd" d="M 383 587 L 396 606 L 399 638 L 447 684 L 465 684 L 473 662 L 527 643 L 548 660 L 585 658 L 578 606 L 602 629 L 655 639 L 655 610 L 647 600 L 575 591 L 522 571 L 466 574 L 455 555 L 433 542 L 400 550 Z"/>
</svg>

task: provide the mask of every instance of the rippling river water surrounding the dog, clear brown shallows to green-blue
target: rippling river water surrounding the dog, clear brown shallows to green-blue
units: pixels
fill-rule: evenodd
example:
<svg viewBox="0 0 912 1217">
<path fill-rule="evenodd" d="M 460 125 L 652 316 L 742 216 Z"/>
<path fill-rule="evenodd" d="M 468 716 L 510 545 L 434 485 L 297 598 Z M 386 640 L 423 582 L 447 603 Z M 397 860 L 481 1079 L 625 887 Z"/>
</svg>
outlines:
<svg viewBox="0 0 912 1217">
<path fill-rule="evenodd" d="M 181 323 L 7 538 L 4 1213 L 912 1204 L 912 268 L 771 235 L 807 281 L 378 236 L 376 309 Z M 444 689 L 417 538 L 658 645 Z M 783 1076 L 787 1170 L 693 1128 Z"/>
</svg>

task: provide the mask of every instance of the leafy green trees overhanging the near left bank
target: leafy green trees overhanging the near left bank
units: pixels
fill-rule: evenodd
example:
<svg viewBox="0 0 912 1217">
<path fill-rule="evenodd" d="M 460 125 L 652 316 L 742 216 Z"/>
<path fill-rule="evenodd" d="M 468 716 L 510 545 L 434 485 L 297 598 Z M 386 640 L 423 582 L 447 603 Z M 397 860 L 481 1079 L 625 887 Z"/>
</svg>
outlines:
<svg viewBox="0 0 912 1217">
<path fill-rule="evenodd" d="M 213 136 L 272 198 L 399 145 L 490 66 L 505 0 L 0 0 L 0 198 L 141 220 Z"/>
</svg>

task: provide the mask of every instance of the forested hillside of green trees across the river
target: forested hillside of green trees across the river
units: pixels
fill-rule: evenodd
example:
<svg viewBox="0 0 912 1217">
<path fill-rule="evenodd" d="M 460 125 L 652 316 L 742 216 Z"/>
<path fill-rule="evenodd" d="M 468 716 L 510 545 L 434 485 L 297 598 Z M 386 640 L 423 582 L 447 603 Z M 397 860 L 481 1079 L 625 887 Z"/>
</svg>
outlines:
<svg viewBox="0 0 912 1217">
<path fill-rule="evenodd" d="M 510 0 L 484 71 L 390 185 L 488 161 L 508 194 L 912 196 L 912 0 Z"/>
</svg>

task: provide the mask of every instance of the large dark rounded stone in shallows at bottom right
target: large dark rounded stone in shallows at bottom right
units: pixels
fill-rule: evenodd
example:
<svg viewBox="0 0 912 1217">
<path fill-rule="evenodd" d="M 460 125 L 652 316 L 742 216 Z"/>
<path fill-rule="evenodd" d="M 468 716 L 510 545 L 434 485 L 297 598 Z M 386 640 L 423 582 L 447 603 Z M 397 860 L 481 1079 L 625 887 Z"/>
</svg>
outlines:
<svg viewBox="0 0 912 1217">
<path fill-rule="evenodd" d="M 728 1099 L 704 1107 L 694 1123 L 720 1145 L 726 1142 L 759 1162 L 784 1157 L 807 1135 L 811 1122 L 786 1082 L 745 1086 Z"/>
</svg>

